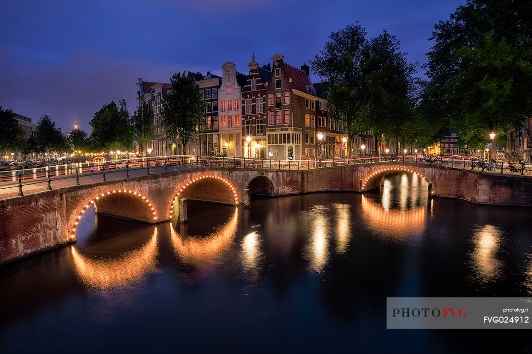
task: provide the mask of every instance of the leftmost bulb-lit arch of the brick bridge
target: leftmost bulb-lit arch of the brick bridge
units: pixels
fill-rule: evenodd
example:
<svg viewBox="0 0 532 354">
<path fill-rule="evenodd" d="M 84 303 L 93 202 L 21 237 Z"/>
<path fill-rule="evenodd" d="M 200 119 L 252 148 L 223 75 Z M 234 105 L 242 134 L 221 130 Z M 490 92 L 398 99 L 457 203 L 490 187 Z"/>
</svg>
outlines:
<svg viewBox="0 0 532 354">
<path fill-rule="evenodd" d="M 132 211 L 135 211 L 135 208 L 142 207 L 144 205 L 146 206 L 145 211 L 138 214 L 132 214 L 130 218 L 128 218 L 128 215 L 107 212 L 109 210 L 115 209 L 117 198 L 126 200 L 128 203 L 128 209 Z M 84 214 L 87 212 L 87 210 L 93 204 L 95 206 L 96 213 L 99 212 L 104 214 L 110 214 L 115 217 L 143 220 L 153 223 L 157 222 L 157 212 L 155 210 L 155 207 L 149 200 L 149 198 L 147 198 L 145 195 L 137 191 L 132 191 L 131 189 L 112 189 L 110 191 L 99 193 L 91 197 L 89 200 L 86 200 L 84 204 L 81 204 L 80 206 L 78 206 L 78 208 L 75 209 L 76 211 L 74 211 L 73 213 L 73 220 L 71 221 L 71 224 L 68 229 L 70 239 L 73 240 L 74 238 L 76 238 L 78 224 L 83 218 Z M 98 211 L 98 209 L 101 210 Z"/>
</svg>

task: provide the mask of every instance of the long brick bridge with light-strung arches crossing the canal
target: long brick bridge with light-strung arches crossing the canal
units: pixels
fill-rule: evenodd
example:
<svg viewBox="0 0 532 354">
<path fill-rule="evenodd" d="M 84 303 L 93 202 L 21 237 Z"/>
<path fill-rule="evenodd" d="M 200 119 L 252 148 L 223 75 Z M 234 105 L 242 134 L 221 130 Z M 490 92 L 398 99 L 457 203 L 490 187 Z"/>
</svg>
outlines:
<svg viewBox="0 0 532 354">
<path fill-rule="evenodd" d="M 320 191 L 363 193 L 384 176 L 417 174 L 433 196 L 498 205 L 532 205 L 532 178 L 480 174 L 415 163 L 371 163 L 310 170 L 197 168 L 64 187 L 0 201 L 0 264 L 76 240 L 88 208 L 114 217 L 157 223 L 176 215 L 178 198 L 230 205 L 251 194 L 283 196 Z"/>
</svg>

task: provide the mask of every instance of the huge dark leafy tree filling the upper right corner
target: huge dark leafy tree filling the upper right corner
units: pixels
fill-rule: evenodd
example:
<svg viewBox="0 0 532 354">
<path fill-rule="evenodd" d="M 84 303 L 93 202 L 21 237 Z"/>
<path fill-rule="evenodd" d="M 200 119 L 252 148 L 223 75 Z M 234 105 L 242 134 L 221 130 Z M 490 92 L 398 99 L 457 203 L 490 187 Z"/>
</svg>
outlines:
<svg viewBox="0 0 532 354">
<path fill-rule="evenodd" d="M 468 0 L 435 25 L 423 100 L 471 143 L 532 115 L 530 23 L 530 0 Z"/>
</svg>

